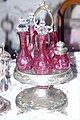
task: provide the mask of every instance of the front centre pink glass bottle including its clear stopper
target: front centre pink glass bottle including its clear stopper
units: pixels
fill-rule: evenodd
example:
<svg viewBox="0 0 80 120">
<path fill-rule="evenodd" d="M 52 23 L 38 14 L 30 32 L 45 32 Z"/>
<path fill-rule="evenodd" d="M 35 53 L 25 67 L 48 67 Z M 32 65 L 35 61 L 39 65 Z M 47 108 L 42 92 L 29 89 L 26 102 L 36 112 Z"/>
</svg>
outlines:
<svg viewBox="0 0 80 120">
<path fill-rule="evenodd" d="M 39 40 L 39 56 L 34 63 L 34 71 L 36 74 L 45 75 L 52 71 L 51 61 L 46 52 L 46 38 L 48 36 L 48 28 L 45 26 L 45 21 L 40 20 L 37 30 L 37 38 Z"/>
</svg>

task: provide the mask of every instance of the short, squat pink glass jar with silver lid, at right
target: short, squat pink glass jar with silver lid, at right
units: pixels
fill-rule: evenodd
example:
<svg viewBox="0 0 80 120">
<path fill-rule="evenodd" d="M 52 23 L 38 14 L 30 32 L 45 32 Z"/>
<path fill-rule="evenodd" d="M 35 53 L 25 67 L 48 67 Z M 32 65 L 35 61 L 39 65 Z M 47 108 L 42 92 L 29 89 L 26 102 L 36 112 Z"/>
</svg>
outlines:
<svg viewBox="0 0 80 120">
<path fill-rule="evenodd" d="M 54 57 L 52 59 L 53 69 L 66 70 L 70 66 L 69 58 L 67 55 L 67 48 L 65 44 L 59 41 L 54 49 Z"/>
</svg>

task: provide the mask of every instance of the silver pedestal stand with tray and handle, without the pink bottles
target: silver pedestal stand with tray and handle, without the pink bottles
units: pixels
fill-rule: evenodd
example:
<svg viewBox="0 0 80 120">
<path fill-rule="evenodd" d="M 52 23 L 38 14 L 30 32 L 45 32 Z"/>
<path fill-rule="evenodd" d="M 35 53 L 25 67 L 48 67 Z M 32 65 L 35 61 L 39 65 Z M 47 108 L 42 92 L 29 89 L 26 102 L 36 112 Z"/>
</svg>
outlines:
<svg viewBox="0 0 80 120">
<path fill-rule="evenodd" d="M 44 3 L 39 6 L 38 10 L 48 11 Z M 37 14 L 37 11 L 35 13 Z M 51 16 L 50 11 L 48 13 Z M 16 96 L 16 106 L 21 112 L 39 109 L 62 111 L 67 106 L 66 94 L 54 88 L 54 85 L 68 82 L 73 78 L 71 67 L 63 71 L 53 70 L 48 75 L 36 75 L 33 70 L 22 72 L 15 68 L 14 78 L 23 84 L 34 86 L 24 89 Z"/>
</svg>

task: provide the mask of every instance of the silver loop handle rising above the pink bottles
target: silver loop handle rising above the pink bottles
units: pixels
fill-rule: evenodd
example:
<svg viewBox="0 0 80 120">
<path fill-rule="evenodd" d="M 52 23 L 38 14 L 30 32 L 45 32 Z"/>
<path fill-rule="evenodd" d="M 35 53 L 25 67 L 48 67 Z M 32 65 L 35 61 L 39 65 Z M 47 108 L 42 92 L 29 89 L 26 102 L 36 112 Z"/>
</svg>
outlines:
<svg viewBox="0 0 80 120">
<path fill-rule="evenodd" d="M 47 25 L 47 28 L 49 30 L 49 32 L 53 31 L 53 16 L 52 13 L 50 12 L 50 10 L 47 8 L 47 6 L 45 5 L 45 1 L 43 1 L 39 7 L 36 9 L 36 11 L 34 12 L 34 26 L 35 28 L 39 28 L 39 25 L 36 22 L 36 15 L 41 11 L 41 10 L 45 10 L 49 17 L 51 18 L 51 25 Z"/>
</svg>

